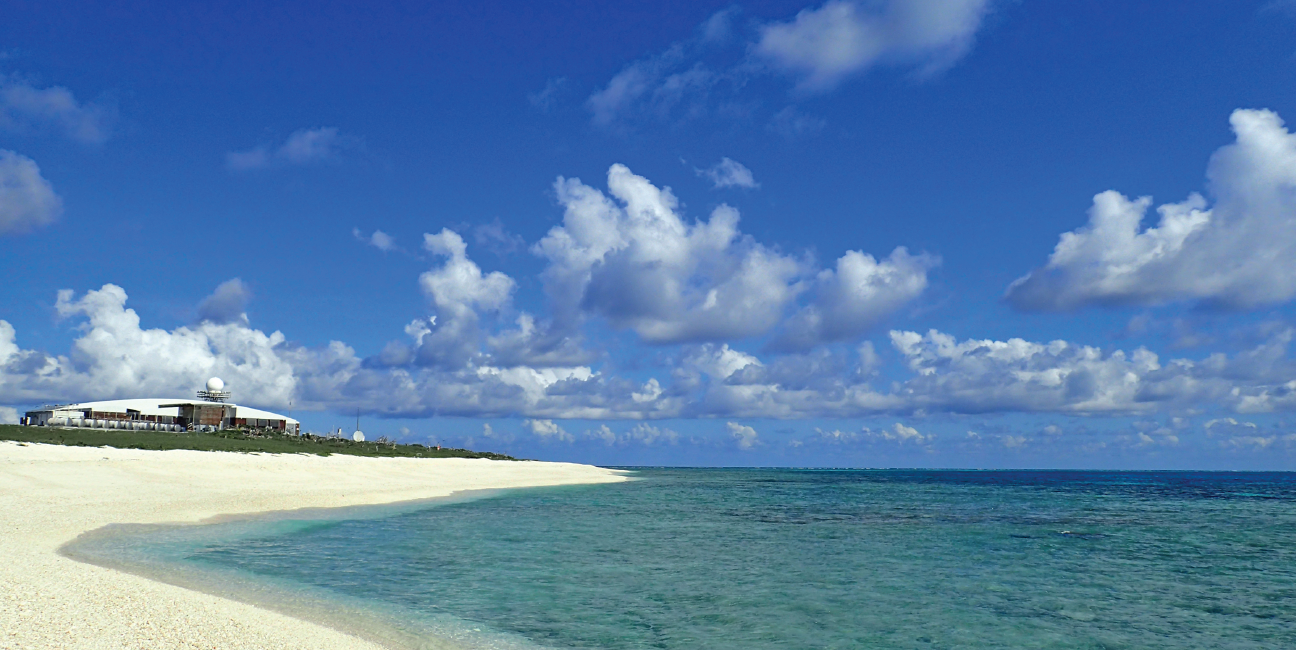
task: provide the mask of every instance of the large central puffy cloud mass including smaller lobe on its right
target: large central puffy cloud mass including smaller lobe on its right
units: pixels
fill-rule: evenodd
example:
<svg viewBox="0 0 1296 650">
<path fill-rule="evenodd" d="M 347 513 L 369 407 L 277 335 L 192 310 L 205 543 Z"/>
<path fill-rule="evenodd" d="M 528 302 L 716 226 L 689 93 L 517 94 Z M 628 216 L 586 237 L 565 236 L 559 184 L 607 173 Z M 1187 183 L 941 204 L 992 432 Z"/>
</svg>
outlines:
<svg viewBox="0 0 1296 650">
<path fill-rule="evenodd" d="M 861 334 L 916 298 L 933 258 L 897 249 L 883 262 L 848 251 L 837 268 L 769 249 L 739 230 L 737 210 L 722 205 L 706 221 L 686 223 L 669 188 L 622 164 L 608 170 L 608 192 L 559 179 L 562 225 L 534 251 L 555 319 L 575 326 L 601 316 L 651 343 L 731 341 L 783 324 L 806 290 L 810 303 L 788 321 L 783 347 L 807 348 Z"/>
</svg>

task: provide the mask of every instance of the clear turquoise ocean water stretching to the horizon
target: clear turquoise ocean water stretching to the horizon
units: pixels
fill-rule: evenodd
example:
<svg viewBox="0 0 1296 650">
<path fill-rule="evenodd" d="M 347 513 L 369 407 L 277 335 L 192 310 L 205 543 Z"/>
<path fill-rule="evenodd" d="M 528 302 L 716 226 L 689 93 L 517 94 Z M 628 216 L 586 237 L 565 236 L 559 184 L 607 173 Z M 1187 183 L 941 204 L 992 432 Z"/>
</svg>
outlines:
<svg viewBox="0 0 1296 650">
<path fill-rule="evenodd" d="M 635 475 L 97 553 L 428 647 L 1296 647 L 1296 474 Z"/>
</svg>

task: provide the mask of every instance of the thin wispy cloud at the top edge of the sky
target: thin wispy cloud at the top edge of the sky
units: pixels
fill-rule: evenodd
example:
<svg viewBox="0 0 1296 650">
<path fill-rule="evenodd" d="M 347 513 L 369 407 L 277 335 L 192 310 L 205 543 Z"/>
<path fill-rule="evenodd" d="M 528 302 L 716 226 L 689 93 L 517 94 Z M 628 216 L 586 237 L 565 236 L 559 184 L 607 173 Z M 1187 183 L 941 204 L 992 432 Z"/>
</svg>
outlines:
<svg viewBox="0 0 1296 650">
<path fill-rule="evenodd" d="M 822 92 L 875 66 L 916 69 L 928 76 L 971 50 L 990 0 L 831 0 L 791 21 L 757 25 L 756 40 L 735 38 L 737 10 L 724 9 L 662 52 L 622 67 L 586 100 L 594 123 L 634 119 L 724 120 L 726 127 L 769 119 L 787 136 L 823 128 L 820 118 L 787 106 L 757 115 L 752 82 L 791 75 L 801 91 Z"/>
</svg>

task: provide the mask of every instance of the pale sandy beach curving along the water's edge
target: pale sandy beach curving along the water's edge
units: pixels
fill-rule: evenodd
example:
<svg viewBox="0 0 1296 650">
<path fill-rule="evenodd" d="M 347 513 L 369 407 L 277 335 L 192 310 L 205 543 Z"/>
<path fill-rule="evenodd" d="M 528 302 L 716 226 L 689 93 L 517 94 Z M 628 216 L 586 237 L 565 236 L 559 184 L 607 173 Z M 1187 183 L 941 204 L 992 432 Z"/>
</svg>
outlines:
<svg viewBox="0 0 1296 650">
<path fill-rule="evenodd" d="M 109 523 L 185 523 L 463 489 L 608 483 L 586 465 L 242 454 L 0 442 L 0 649 L 377 649 L 250 605 L 71 561 Z"/>
</svg>

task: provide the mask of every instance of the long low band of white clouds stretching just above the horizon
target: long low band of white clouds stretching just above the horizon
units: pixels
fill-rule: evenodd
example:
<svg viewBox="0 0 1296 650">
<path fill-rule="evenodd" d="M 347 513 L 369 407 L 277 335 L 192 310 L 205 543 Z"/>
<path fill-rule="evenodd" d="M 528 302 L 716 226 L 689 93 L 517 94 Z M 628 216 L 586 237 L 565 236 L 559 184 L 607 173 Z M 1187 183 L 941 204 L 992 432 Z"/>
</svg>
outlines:
<svg viewBox="0 0 1296 650">
<path fill-rule="evenodd" d="M 448 241 L 447 241 L 448 240 Z M 454 238 L 447 267 L 456 263 Z M 434 294 L 439 306 L 502 304 L 490 275 L 459 290 Z M 499 284 L 496 281 L 496 284 Z M 457 302 L 456 302 L 457 300 Z M 1296 408 L 1296 364 L 1288 357 L 1292 330 L 1234 356 L 1163 360 L 1147 350 L 1103 351 L 1063 341 L 956 339 L 941 331 L 892 331 L 889 356 L 899 361 L 885 382 L 871 346 L 858 357 L 841 351 L 759 359 L 727 344 L 683 346 L 651 377 L 631 379 L 617 368 L 504 365 L 486 337 L 482 351 L 461 363 L 425 363 L 417 353 L 395 363 L 362 357 L 341 342 L 294 346 L 242 320 L 202 321 L 174 330 L 144 329 L 126 291 L 114 285 L 76 297 L 58 295 L 57 312 L 80 334 L 66 355 L 18 346 L 0 321 L 0 404 L 48 400 L 174 395 L 183 398 L 219 375 L 249 404 L 297 409 L 355 408 L 402 417 L 522 417 L 533 435 L 555 442 L 574 436 L 557 420 L 816 418 L 915 413 L 1034 412 L 1137 414 L 1159 410 L 1251 413 Z M 451 317 L 451 316 L 447 316 Z M 439 319 L 438 319 L 439 320 Z M 411 339 L 439 324 L 408 328 Z M 419 347 L 411 347 L 417 351 Z M 866 353 L 867 352 L 867 353 Z M 438 360 L 439 361 L 439 360 Z M 730 434 L 740 445 L 759 438 L 745 425 Z M 1212 426 L 1214 429 L 1214 426 Z M 925 444 L 928 434 L 897 425 L 863 435 Z M 596 431 L 608 444 L 675 440 L 652 426 L 621 436 Z"/>
</svg>

